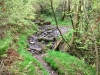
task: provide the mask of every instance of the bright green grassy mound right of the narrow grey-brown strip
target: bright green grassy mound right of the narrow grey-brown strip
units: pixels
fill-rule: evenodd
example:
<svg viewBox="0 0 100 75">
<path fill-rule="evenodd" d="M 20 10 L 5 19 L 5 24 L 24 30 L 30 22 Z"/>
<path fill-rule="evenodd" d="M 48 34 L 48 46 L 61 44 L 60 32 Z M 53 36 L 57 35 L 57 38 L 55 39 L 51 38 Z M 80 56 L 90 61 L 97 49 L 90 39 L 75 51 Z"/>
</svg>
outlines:
<svg viewBox="0 0 100 75">
<path fill-rule="evenodd" d="M 49 51 L 44 60 L 50 66 L 63 75 L 95 75 L 96 70 L 90 65 L 84 63 L 83 60 L 71 56 L 67 53 Z"/>
</svg>

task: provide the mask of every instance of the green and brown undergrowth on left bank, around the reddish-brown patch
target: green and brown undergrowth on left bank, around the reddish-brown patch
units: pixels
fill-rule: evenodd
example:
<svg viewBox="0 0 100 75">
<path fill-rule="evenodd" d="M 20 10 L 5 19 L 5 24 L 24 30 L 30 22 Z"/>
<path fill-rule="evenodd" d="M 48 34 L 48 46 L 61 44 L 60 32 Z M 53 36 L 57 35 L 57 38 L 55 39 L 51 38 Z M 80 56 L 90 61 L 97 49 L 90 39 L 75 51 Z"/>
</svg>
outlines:
<svg viewBox="0 0 100 75">
<path fill-rule="evenodd" d="M 7 33 L 6 36 L 4 36 L 3 39 L 0 39 L 0 57 L 8 57 L 6 54 L 8 49 L 15 49 L 19 53 L 20 59 L 15 61 L 14 64 L 9 67 L 5 66 L 5 68 L 9 70 L 9 73 L 13 75 L 48 75 L 48 72 L 41 63 L 27 50 L 27 37 L 37 30 L 37 26 L 34 26 L 31 22 L 29 23 L 30 25 L 28 26 L 9 24 L 10 29 L 8 32 L 5 32 Z"/>
</svg>

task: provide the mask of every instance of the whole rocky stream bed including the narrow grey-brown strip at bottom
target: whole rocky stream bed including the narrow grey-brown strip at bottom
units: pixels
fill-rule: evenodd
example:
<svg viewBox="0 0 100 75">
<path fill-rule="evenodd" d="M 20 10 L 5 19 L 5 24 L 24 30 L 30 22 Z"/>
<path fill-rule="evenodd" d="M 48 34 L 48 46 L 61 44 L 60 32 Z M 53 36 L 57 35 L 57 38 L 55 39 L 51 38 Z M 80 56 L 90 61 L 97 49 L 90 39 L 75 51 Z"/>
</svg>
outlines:
<svg viewBox="0 0 100 75">
<path fill-rule="evenodd" d="M 49 49 L 54 48 L 54 44 L 57 42 L 57 37 L 60 36 L 58 29 L 51 25 L 50 23 L 45 25 L 38 25 L 38 31 L 28 38 L 29 41 L 29 51 L 33 54 L 33 56 L 43 65 L 43 67 L 49 72 L 50 75 L 58 75 L 50 66 L 43 60 L 43 56 L 46 52 L 46 46 Z M 61 26 L 59 27 L 62 34 L 69 31 L 70 27 Z"/>
</svg>

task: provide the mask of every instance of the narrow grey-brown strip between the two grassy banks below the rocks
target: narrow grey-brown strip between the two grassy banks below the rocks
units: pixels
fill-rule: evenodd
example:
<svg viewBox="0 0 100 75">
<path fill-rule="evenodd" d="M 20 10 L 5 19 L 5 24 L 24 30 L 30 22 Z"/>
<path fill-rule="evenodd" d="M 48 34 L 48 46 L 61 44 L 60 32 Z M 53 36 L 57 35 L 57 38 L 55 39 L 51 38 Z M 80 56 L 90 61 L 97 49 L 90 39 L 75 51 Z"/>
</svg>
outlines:
<svg viewBox="0 0 100 75">
<path fill-rule="evenodd" d="M 49 75 L 58 75 L 56 71 L 54 71 L 43 59 L 45 54 L 34 54 L 33 56 L 42 64 L 42 66 L 47 70 Z"/>
</svg>

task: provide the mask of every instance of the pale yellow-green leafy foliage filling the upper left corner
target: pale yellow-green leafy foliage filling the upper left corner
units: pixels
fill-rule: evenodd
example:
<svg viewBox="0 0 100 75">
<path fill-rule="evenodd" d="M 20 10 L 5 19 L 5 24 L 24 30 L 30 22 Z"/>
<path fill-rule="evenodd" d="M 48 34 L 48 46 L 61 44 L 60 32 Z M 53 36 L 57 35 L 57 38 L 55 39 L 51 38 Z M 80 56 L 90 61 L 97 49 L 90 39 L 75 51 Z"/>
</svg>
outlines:
<svg viewBox="0 0 100 75">
<path fill-rule="evenodd" d="M 32 1 L 34 0 L 3 0 L 4 4 L 0 7 L 0 24 L 14 23 L 20 25 L 25 23 L 25 17 L 34 17 Z"/>
</svg>

